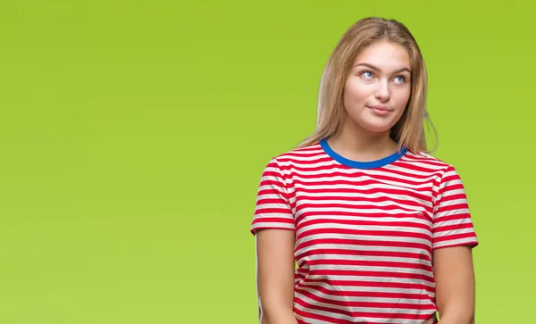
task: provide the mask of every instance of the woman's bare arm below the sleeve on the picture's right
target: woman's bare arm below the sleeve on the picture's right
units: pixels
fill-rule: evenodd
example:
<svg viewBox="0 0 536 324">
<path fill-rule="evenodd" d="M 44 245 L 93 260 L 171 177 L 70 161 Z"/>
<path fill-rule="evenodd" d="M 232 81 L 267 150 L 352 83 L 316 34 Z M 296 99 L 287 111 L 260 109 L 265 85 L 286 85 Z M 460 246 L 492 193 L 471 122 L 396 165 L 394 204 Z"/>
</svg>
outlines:
<svg viewBox="0 0 536 324">
<path fill-rule="evenodd" d="M 435 250 L 433 269 L 440 324 L 473 324 L 475 280 L 471 247 Z"/>
</svg>

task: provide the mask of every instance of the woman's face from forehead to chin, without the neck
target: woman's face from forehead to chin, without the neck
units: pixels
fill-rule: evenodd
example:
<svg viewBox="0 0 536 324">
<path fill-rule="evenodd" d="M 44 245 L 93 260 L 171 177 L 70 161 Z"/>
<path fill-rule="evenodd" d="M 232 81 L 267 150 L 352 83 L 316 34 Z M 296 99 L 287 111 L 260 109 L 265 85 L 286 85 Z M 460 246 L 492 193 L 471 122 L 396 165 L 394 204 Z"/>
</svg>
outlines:
<svg viewBox="0 0 536 324">
<path fill-rule="evenodd" d="M 382 41 L 364 49 L 345 84 L 348 121 L 370 132 L 388 132 L 406 109 L 410 66 L 406 48 L 397 44 Z"/>
</svg>

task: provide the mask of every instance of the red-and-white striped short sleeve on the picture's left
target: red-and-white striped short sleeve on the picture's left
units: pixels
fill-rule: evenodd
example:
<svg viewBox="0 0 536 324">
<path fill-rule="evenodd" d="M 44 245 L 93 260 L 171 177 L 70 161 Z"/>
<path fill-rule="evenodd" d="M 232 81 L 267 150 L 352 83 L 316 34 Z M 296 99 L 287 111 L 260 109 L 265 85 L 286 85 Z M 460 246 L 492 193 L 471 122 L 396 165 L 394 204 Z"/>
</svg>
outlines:
<svg viewBox="0 0 536 324">
<path fill-rule="evenodd" d="M 294 214 L 279 162 L 273 158 L 264 168 L 258 187 L 251 233 L 263 228 L 294 230 Z"/>
</svg>

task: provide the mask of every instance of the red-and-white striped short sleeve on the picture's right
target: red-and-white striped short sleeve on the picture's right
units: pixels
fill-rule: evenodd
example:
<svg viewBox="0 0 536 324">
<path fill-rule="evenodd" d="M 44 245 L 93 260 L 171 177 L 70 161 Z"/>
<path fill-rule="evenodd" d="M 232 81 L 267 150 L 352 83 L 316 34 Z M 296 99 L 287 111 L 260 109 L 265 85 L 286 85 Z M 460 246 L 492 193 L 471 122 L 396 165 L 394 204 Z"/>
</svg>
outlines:
<svg viewBox="0 0 536 324">
<path fill-rule="evenodd" d="M 478 245 L 465 188 L 453 166 L 443 173 L 436 186 L 433 207 L 432 249 Z"/>
</svg>

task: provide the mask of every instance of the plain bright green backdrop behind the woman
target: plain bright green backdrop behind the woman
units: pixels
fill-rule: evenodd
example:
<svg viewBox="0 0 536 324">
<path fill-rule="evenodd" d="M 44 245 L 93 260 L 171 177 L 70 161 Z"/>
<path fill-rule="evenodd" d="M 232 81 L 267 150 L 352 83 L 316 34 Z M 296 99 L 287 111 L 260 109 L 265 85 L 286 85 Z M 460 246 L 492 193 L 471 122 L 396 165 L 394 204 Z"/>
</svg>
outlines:
<svg viewBox="0 0 536 324">
<path fill-rule="evenodd" d="M 255 323 L 265 164 L 314 129 L 369 15 L 414 33 L 481 245 L 477 320 L 528 323 L 533 8 L 506 1 L 0 3 L 0 323 Z"/>
</svg>

